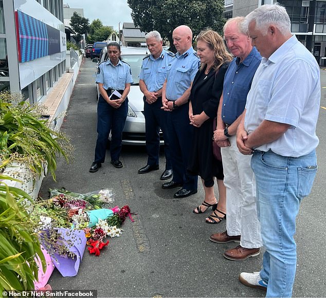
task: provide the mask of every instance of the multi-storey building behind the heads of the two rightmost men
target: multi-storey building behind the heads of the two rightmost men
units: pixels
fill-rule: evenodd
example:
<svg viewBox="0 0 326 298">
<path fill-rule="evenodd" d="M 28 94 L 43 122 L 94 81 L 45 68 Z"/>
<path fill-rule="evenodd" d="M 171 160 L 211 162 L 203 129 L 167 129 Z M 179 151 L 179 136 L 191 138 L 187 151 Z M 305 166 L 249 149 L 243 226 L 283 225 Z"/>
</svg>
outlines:
<svg viewBox="0 0 326 298">
<path fill-rule="evenodd" d="M 278 0 L 291 19 L 291 32 L 315 56 L 321 67 L 326 66 L 326 0 Z M 258 6 L 276 0 L 225 0 L 226 18 L 247 15 Z"/>
</svg>

